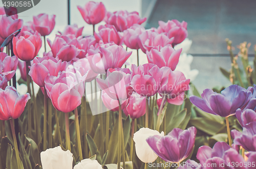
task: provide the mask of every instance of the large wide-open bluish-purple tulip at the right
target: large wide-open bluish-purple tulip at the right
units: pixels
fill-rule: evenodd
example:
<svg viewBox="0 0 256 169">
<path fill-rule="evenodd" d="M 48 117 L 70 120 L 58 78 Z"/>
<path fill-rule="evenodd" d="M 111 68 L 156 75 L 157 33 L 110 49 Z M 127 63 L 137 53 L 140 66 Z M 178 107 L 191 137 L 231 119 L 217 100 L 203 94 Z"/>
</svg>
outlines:
<svg viewBox="0 0 256 169">
<path fill-rule="evenodd" d="M 218 94 L 210 89 L 205 89 L 202 98 L 190 96 L 191 103 L 201 110 L 221 117 L 229 117 L 236 114 L 238 108 L 244 109 L 252 97 L 252 88 L 247 90 L 231 85 Z"/>
</svg>

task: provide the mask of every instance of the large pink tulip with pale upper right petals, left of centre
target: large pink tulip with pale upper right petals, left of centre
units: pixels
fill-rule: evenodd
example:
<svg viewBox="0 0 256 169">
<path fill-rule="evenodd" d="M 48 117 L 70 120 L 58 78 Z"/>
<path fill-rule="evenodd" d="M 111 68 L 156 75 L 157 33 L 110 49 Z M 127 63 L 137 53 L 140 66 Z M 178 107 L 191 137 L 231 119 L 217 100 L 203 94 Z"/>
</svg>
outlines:
<svg viewBox="0 0 256 169">
<path fill-rule="evenodd" d="M 62 112 L 73 111 L 81 104 L 84 79 L 79 72 L 62 72 L 59 77 L 47 76 L 45 88 L 53 106 Z"/>
</svg>

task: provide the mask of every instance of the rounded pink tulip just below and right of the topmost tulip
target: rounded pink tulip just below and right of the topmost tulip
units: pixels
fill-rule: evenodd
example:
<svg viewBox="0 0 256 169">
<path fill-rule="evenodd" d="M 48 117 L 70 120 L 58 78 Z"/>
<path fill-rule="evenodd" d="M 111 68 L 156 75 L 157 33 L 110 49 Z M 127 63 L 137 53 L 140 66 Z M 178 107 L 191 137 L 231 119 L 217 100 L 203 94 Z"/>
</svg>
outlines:
<svg viewBox="0 0 256 169">
<path fill-rule="evenodd" d="M 117 45 L 123 43 L 122 37 L 118 34 L 115 26 L 105 24 L 99 26 L 99 33 L 94 33 L 96 42 L 99 43 L 101 40 L 103 43 L 114 42 Z"/>
</svg>

